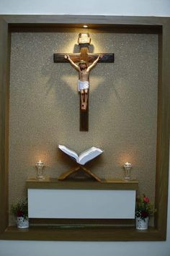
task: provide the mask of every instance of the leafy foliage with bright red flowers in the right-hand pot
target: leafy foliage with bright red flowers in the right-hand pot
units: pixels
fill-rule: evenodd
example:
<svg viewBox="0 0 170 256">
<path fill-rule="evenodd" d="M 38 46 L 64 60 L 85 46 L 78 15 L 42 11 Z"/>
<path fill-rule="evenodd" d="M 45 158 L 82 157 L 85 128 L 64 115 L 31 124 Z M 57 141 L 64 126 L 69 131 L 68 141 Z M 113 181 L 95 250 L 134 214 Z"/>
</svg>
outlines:
<svg viewBox="0 0 170 256">
<path fill-rule="evenodd" d="M 145 220 L 149 216 L 153 216 L 156 212 L 154 205 L 150 202 L 150 199 L 143 194 L 142 197 L 136 197 L 135 216 Z"/>
</svg>

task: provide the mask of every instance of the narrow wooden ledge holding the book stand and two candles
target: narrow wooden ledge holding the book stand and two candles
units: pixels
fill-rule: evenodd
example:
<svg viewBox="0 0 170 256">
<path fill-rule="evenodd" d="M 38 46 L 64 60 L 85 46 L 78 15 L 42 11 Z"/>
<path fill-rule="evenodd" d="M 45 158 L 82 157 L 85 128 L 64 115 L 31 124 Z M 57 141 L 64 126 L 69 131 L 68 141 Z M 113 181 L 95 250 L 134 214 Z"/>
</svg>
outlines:
<svg viewBox="0 0 170 256">
<path fill-rule="evenodd" d="M 58 179 L 45 178 L 37 180 L 35 178 L 27 179 L 27 189 L 121 189 L 121 190 L 137 190 L 138 181 L 132 180 L 127 182 L 123 179 L 102 179 L 102 182 L 97 181 L 62 181 Z"/>
</svg>

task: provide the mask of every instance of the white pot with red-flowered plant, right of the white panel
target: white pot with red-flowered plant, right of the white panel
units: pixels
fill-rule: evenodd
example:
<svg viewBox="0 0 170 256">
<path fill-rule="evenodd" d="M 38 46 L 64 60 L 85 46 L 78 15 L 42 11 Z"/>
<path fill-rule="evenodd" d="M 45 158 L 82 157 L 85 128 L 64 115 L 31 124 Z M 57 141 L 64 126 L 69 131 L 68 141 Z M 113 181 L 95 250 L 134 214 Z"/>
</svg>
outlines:
<svg viewBox="0 0 170 256">
<path fill-rule="evenodd" d="M 156 212 L 154 205 L 150 199 L 143 194 L 142 197 L 136 197 L 135 207 L 135 223 L 136 229 L 148 229 L 149 217 L 153 216 Z"/>
</svg>

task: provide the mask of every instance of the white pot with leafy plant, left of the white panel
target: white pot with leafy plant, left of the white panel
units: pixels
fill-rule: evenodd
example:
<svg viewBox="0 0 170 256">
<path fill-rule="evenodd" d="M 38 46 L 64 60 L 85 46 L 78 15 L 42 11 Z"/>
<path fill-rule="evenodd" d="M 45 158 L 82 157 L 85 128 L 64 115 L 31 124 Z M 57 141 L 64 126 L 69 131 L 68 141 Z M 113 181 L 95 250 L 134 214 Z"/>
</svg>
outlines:
<svg viewBox="0 0 170 256">
<path fill-rule="evenodd" d="M 11 213 L 17 218 L 17 227 L 19 229 L 27 229 L 29 227 L 27 198 L 24 200 L 18 199 L 17 202 L 12 204 Z"/>
</svg>

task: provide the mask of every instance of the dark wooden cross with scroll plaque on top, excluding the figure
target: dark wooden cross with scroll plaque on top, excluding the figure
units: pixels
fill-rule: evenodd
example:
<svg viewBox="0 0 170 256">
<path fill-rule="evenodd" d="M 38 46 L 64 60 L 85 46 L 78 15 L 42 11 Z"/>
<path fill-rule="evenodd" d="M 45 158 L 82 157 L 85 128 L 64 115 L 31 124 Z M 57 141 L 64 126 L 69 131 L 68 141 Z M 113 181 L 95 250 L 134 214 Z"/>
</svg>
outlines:
<svg viewBox="0 0 170 256">
<path fill-rule="evenodd" d="M 79 54 L 54 54 L 55 63 L 68 63 L 66 56 L 69 56 L 71 61 L 74 63 L 81 60 L 86 61 L 87 66 L 89 63 L 93 63 L 99 55 L 102 55 L 102 58 L 99 59 L 99 62 L 114 62 L 114 54 L 89 54 L 89 45 L 91 38 L 89 33 L 79 33 L 78 43 L 80 47 Z M 80 96 L 80 131 L 87 132 L 89 130 L 89 90 L 87 95 L 87 107 L 86 110 L 82 109 L 82 98 Z"/>
</svg>

